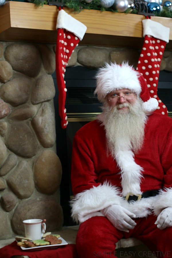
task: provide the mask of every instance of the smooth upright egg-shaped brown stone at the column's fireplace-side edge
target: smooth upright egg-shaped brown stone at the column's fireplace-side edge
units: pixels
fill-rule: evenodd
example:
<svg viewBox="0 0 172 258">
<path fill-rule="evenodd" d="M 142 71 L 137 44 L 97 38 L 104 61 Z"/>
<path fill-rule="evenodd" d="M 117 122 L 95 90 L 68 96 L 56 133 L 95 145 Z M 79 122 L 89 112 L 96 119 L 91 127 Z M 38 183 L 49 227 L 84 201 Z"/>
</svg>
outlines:
<svg viewBox="0 0 172 258">
<path fill-rule="evenodd" d="M 34 163 L 34 180 L 37 189 L 45 194 L 54 193 L 61 182 L 62 166 L 53 150 L 45 150 Z"/>
</svg>

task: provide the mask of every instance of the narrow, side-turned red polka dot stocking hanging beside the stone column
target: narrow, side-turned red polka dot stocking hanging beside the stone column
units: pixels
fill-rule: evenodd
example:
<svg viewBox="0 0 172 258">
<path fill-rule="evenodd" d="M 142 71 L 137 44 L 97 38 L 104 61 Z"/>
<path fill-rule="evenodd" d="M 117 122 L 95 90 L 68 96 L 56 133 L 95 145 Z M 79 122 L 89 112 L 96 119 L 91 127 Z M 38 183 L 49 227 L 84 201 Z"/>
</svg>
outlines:
<svg viewBox="0 0 172 258">
<path fill-rule="evenodd" d="M 61 126 L 62 128 L 66 128 L 68 122 L 65 108 L 67 92 L 66 82 L 64 81 L 65 68 L 72 52 L 74 52 L 74 48 L 78 45 L 79 41 L 83 39 L 87 27 L 66 13 L 63 9 L 60 9 L 57 16 L 56 29 L 56 78 L 59 91 L 58 106 Z"/>
</svg>

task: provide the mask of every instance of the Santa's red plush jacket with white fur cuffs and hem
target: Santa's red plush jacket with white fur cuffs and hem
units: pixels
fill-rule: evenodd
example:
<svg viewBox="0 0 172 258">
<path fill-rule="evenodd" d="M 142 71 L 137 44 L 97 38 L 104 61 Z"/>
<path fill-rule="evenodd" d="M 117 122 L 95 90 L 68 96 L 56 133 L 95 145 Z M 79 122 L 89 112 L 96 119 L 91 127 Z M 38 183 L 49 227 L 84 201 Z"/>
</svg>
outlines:
<svg viewBox="0 0 172 258">
<path fill-rule="evenodd" d="M 73 219 L 83 222 L 92 216 L 102 216 L 101 209 L 113 204 L 124 206 L 137 217 L 152 212 L 158 215 L 163 208 L 172 207 L 171 118 L 155 113 L 148 117 L 144 144 L 134 155 L 134 161 L 143 168 L 139 181 L 141 192 L 161 189 L 159 195 L 127 202 L 122 196 L 120 169 L 106 153 L 104 126 L 94 120 L 78 130 L 73 141 L 71 169 Z M 135 189 L 137 174 L 134 177 L 123 182 L 126 193 Z"/>
</svg>

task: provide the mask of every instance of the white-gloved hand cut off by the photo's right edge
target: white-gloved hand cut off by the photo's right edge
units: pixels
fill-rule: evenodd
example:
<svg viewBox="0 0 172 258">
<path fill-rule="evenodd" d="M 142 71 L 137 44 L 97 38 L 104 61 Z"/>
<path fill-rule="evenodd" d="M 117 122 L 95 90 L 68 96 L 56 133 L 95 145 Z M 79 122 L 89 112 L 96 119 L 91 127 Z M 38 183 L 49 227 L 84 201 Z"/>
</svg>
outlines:
<svg viewBox="0 0 172 258">
<path fill-rule="evenodd" d="M 172 226 L 172 208 L 168 207 L 162 210 L 162 212 L 158 215 L 157 220 L 155 222 L 157 228 L 164 229 Z"/>
</svg>

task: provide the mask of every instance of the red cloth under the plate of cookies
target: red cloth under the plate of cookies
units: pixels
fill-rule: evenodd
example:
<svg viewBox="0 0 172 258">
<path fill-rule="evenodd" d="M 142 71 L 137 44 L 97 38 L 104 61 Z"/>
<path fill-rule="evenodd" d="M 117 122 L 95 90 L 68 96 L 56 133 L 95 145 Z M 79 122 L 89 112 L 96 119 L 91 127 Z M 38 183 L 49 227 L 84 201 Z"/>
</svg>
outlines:
<svg viewBox="0 0 172 258">
<path fill-rule="evenodd" d="M 11 258 L 13 255 L 28 255 L 30 258 L 78 258 L 76 245 L 65 245 L 56 249 L 44 249 L 39 251 L 24 251 L 17 246 L 16 241 L 0 249 L 0 258 Z"/>
</svg>

